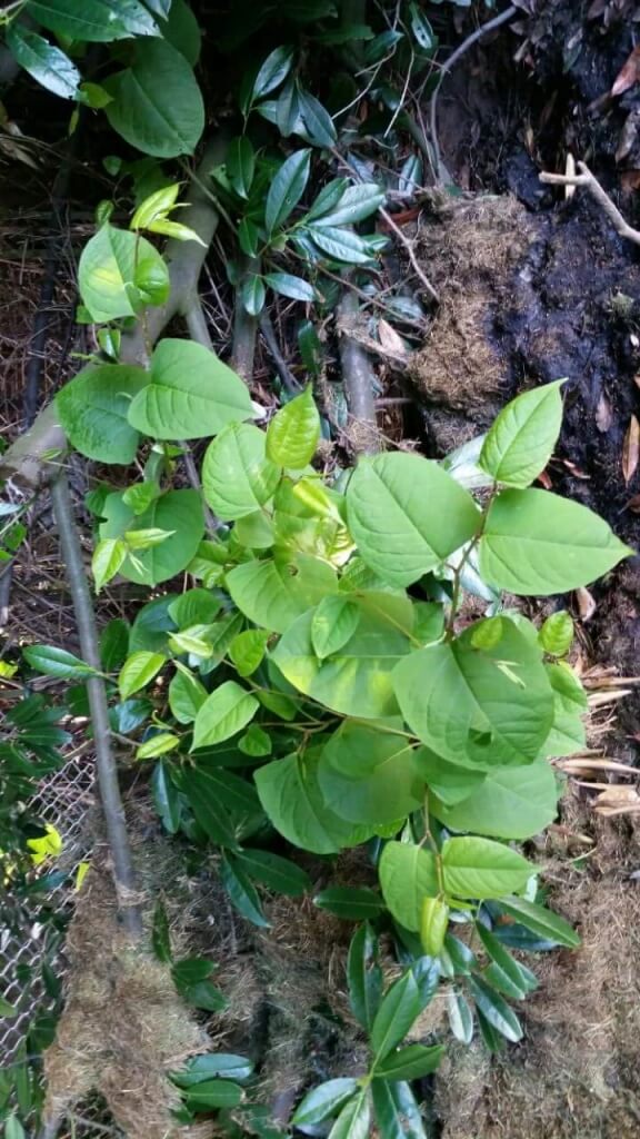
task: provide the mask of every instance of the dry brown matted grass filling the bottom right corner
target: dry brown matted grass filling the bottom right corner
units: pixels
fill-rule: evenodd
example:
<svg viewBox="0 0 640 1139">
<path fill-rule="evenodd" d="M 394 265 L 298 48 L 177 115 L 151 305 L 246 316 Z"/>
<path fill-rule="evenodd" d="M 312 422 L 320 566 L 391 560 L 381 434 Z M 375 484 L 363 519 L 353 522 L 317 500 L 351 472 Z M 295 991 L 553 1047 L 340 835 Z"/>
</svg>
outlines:
<svg viewBox="0 0 640 1139">
<path fill-rule="evenodd" d="M 524 1041 L 490 1060 L 454 1049 L 436 1082 L 443 1139 L 632 1139 L 640 1126 L 640 849 L 625 822 L 597 820 L 575 790 L 571 833 L 596 846 L 581 869 L 547 838 L 550 903 L 579 928 L 577 952 L 542 954 Z"/>
</svg>

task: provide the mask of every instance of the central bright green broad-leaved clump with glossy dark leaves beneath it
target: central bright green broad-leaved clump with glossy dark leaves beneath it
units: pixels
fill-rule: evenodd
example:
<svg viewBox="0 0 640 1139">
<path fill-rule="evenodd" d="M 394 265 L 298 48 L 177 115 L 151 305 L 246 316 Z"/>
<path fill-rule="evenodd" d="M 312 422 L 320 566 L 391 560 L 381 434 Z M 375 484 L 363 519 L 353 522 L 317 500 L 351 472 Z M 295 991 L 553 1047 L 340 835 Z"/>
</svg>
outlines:
<svg viewBox="0 0 640 1139">
<path fill-rule="evenodd" d="M 156 199 L 138 230 L 165 226 L 174 202 Z M 117 271 L 101 273 L 105 259 Z M 114 321 L 166 295 L 159 254 L 108 222 L 80 285 L 116 358 Z M 507 1000 L 535 986 L 509 949 L 577 944 L 515 845 L 556 817 L 550 761 L 584 747 L 573 625 L 558 611 L 536 628 L 501 599 L 564 593 L 631 552 L 585 507 L 532 489 L 560 429 L 563 383 L 508 404 L 471 462 L 468 449 L 444 462 L 386 452 L 336 481 L 312 466 L 311 387 L 264 429 L 239 377 L 190 341 L 161 339 L 146 368 L 91 364 L 58 395 L 82 454 L 137 465 L 130 485 L 120 472 L 117 489 L 90 495 L 93 574 L 98 589 L 120 574 L 149 590 L 131 625 L 105 630 L 102 663 L 114 728 L 155 764 L 166 829 L 203 857 L 214 844 L 233 904 L 257 925 L 256 884 L 310 887 L 281 839 L 321 857 L 369 844 L 379 890 L 331 887 L 315 901 L 368 923 L 348 982 L 371 1065 L 313 1092 L 295 1116 L 303 1129 L 336 1115 L 335 1139 L 355 1134 L 372 1103 L 396 1133 L 407 1081 L 440 1057 L 397 1046 L 437 984 L 454 1034 L 469 1041 L 477 1023 L 495 1048 L 522 1034 Z M 194 478 L 184 489 L 184 441 L 202 439 L 202 490 Z M 475 612 L 485 599 L 479 620 L 468 592 Z M 61 649 L 30 654 L 41 671 L 87 674 Z M 386 994 L 381 931 L 408 967 Z"/>
</svg>

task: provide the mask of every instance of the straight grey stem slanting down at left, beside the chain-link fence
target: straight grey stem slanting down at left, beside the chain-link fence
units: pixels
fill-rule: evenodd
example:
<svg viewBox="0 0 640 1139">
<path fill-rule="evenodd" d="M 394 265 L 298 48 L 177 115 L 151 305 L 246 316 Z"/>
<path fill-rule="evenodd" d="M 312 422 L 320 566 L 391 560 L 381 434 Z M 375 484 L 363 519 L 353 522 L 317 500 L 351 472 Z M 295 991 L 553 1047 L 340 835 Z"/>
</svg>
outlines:
<svg viewBox="0 0 640 1139">
<path fill-rule="evenodd" d="M 142 933 L 142 916 L 136 890 L 136 876 L 117 781 L 116 762 L 110 746 L 109 712 L 105 681 L 100 674 L 101 663 L 96 615 L 84 572 L 84 560 L 73 516 L 67 477 L 64 472 L 51 486 L 51 500 L 60 551 L 68 574 L 82 656 L 87 664 L 96 670 L 96 675 L 90 677 L 87 681 L 87 693 L 96 747 L 98 788 L 110 850 L 118 913 L 124 928 L 132 936 L 139 937 Z"/>
</svg>

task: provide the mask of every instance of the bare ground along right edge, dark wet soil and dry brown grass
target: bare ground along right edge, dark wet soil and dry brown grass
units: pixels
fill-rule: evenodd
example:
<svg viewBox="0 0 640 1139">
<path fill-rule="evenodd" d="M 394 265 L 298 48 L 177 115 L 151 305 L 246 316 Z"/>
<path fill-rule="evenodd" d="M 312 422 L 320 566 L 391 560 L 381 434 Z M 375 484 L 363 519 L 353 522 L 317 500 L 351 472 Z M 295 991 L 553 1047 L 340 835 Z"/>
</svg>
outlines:
<svg viewBox="0 0 640 1139">
<path fill-rule="evenodd" d="M 491 64 L 507 51 L 501 38 L 486 54 L 471 54 L 446 88 L 445 161 L 459 185 L 483 196 L 456 203 L 425 227 L 421 253 L 443 304 L 412 378 L 424 393 L 430 443 L 442 453 L 484 431 L 516 392 L 566 376 L 563 434 L 544 483 L 604 515 L 639 549 L 640 517 L 627 503 L 640 475 L 625 478 L 623 448 L 640 408 L 640 251 L 583 191 L 563 202 L 538 181 L 541 169 L 564 169 L 572 149 L 589 157 L 632 218 L 614 155 L 637 89 L 622 105 L 590 106 L 627 57 L 630 30 L 585 21 L 581 5 L 553 2 L 522 25 L 536 68 L 528 85 L 510 65 L 507 79 L 497 79 Z M 576 35 L 581 50 L 567 63 Z M 635 149 L 623 165 L 633 166 Z M 640 671 L 639 587 L 635 558 L 593 588 L 596 612 L 580 626 L 585 661 L 626 677 Z M 577 601 L 568 603 L 580 616 Z M 616 713 L 598 743 L 634 763 L 637 696 Z M 519 1046 L 494 1058 L 479 1043 L 451 1051 L 435 1081 L 442 1139 L 639 1133 L 640 843 L 633 816 L 598 819 L 589 795 L 569 789 L 563 828 L 538 852 L 550 901 L 577 925 L 582 948 L 538 958 L 541 985 L 524 1005 Z"/>
</svg>

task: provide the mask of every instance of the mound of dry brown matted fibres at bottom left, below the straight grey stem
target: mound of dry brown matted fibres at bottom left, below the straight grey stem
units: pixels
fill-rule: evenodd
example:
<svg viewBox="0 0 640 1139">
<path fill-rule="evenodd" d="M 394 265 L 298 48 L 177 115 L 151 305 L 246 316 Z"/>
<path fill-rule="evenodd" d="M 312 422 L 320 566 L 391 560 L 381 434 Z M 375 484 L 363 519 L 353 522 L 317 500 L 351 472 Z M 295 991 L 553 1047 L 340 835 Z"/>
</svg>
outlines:
<svg viewBox="0 0 640 1139">
<path fill-rule="evenodd" d="M 113 879 L 99 857 L 79 898 L 67 953 L 66 1005 L 44 1056 L 44 1120 L 61 1121 L 99 1092 L 129 1139 L 188 1134 L 172 1114 L 180 1098 L 167 1072 L 206 1049 L 207 1038 L 169 966 L 120 928 Z"/>
</svg>

